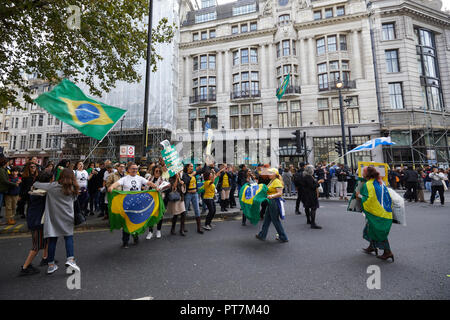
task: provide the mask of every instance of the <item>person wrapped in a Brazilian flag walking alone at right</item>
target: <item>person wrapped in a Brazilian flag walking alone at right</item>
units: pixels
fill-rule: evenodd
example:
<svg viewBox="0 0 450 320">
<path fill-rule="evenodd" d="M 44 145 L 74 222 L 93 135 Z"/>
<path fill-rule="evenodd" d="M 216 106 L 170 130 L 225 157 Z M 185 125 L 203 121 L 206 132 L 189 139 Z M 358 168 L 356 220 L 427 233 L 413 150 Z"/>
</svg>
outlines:
<svg viewBox="0 0 450 320">
<path fill-rule="evenodd" d="M 363 178 L 366 182 L 361 192 L 356 192 L 356 196 L 361 199 L 361 206 L 366 216 L 363 238 L 369 241 L 369 246 L 363 251 L 368 254 L 375 252 L 377 258 L 382 260 L 390 258 L 394 262 L 394 255 L 388 241 L 392 226 L 391 196 L 380 173 L 374 167 L 365 167 Z M 378 256 L 378 249 L 384 250 L 382 256 Z"/>
</svg>

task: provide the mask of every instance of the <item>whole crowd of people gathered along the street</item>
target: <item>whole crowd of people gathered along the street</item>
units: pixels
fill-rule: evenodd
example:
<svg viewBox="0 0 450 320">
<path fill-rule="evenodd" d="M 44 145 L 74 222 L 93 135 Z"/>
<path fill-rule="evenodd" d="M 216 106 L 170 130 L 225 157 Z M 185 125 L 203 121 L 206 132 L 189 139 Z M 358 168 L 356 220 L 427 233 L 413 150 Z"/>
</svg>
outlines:
<svg viewBox="0 0 450 320">
<path fill-rule="evenodd" d="M 27 219 L 32 235 L 32 248 L 21 267 L 20 274 L 35 274 L 39 270 L 32 265 L 40 250 L 43 251 L 40 266 L 47 266 L 47 274 L 58 269 L 55 250 L 58 237 L 64 237 L 66 246 L 66 266 L 79 268 L 74 258 L 74 217 L 77 212 L 108 219 L 108 192 L 113 190 L 141 191 L 154 189 L 161 193 L 165 214 L 172 215 L 171 235 L 176 235 L 176 224 L 180 218 L 179 234 L 186 236 L 185 219 L 192 207 L 197 225 L 197 233 L 213 230 L 212 221 L 216 213 L 216 201 L 221 212 L 236 207 L 236 197 L 246 183 L 267 185 L 267 201 L 260 208 L 261 231 L 256 235 L 265 240 L 271 224 L 277 230 L 277 240 L 288 242 L 282 226 L 281 198 L 283 195 L 297 195 L 295 213 L 300 215 L 300 203 L 303 203 L 306 223 L 312 229 L 321 229 L 316 223 L 319 197 L 339 197 L 348 200 L 349 182 L 355 173 L 343 164 L 319 163 L 316 166 L 300 163 L 298 168 L 292 165 L 283 168 L 271 168 L 269 164 L 260 164 L 255 169 L 240 165 L 236 168 L 230 164 L 216 166 L 213 161 L 204 165 L 186 164 L 182 172 L 170 176 L 164 161 L 159 159 L 148 165 L 138 166 L 134 162 L 115 163 L 110 160 L 89 163 L 85 168 L 83 161 L 71 163 L 62 160 L 57 165 L 49 162 L 41 167 L 36 157 L 23 167 L 15 167 L 6 158 L 0 158 L 0 203 L 5 204 L 5 222 L 16 224 L 15 215 Z M 372 188 L 382 188 L 379 173 L 369 169 L 364 171 L 364 178 L 370 181 Z M 396 169 L 389 172 L 389 181 L 394 189 L 403 188 L 405 198 L 409 201 L 425 201 L 423 190 L 431 191 L 430 203 L 437 193 L 444 204 L 444 190 L 448 186 L 448 170 L 426 167 L 414 170 L 412 167 Z M 353 191 L 353 186 L 351 186 Z M 363 201 L 372 201 L 370 192 L 357 194 Z M 387 196 L 388 193 L 387 193 Z M 373 196 L 372 196 L 373 197 Z M 371 200 L 372 199 L 372 200 Z M 205 221 L 201 215 L 208 214 Z M 1 217 L 0 217 L 1 218 Z M 162 219 L 156 225 L 156 238 L 161 238 Z M 242 215 L 242 225 L 247 218 Z M 387 233 L 380 238 L 371 232 L 370 221 L 364 231 L 364 238 L 370 242 L 366 253 L 383 248 L 383 259 L 392 258 Z M 370 227 L 370 228 L 369 228 Z M 390 228 L 390 226 L 389 226 Z M 368 231 L 370 230 L 370 232 Z M 384 231 L 383 231 L 384 232 Z M 154 228 L 150 227 L 146 239 L 152 239 Z M 129 248 L 131 235 L 122 232 L 122 247 Z M 139 236 L 132 235 L 134 244 L 139 243 Z M 375 238 L 374 238 L 375 237 Z"/>
</svg>

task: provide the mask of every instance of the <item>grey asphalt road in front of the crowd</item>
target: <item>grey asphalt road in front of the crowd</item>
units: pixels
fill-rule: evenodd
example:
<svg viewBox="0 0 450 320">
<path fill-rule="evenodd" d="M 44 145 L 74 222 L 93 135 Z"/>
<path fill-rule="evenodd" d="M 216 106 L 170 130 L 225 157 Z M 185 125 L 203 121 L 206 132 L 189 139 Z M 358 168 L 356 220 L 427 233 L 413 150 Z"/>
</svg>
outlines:
<svg viewBox="0 0 450 320">
<path fill-rule="evenodd" d="M 255 239 L 258 226 L 215 221 L 213 231 L 168 235 L 120 248 L 120 232 L 75 235 L 81 290 L 68 290 L 63 264 L 53 275 L 17 277 L 28 237 L 0 239 L 0 299 L 449 299 L 449 206 L 407 203 L 407 227 L 389 237 L 395 262 L 361 253 L 364 218 L 341 202 L 323 202 L 322 230 L 311 230 L 288 201 L 288 243 Z M 65 261 L 59 240 L 57 259 Z M 381 269 L 381 289 L 369 290 L 367 267 Z"/>
</svg>

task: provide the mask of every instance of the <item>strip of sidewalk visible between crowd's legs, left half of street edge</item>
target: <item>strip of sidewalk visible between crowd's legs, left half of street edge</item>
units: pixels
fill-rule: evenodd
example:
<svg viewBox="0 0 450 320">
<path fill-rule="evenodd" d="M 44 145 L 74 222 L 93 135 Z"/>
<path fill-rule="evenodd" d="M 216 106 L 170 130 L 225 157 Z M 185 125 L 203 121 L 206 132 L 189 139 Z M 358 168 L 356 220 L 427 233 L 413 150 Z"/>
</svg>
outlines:
<svg viewBox="0 0 450 320">
<path fill-rule="evenodd" d="M 201 210 L 201 208 L 200 208 Z M 235 217 L 238 216 L 241 213 L 240 208 L 233 208 L 227 209 L 227 212 L 220 212 L 220 206 L 216 206 L 216 215 L 214 216 L 214 218 L 229 218 L 229 217 Z M 208 211 L 207 211 L 208 212 Z M 4 215 L 4 210 L 2 210 L 2 214 L 3 216 L 2 219 L 0 219 L 1 222 L 5 221 L 5 215 Z M 207 213 L 202 214 L 201 218 L 202 218 L 202 225 L 205 221 L 205 217 L 206 217 Z M 28 227 L 27 227 L 27 221 L 26 219 L 21 219 L 20 217 L 18 217 L 16 215 L 16 224 L 12 225 L 12 226 L 0 226 L 0 237 L 3 235 L 11 235 L 11 234 L 23 234 L 23 233 L 28 233 Z M 166 222 L 170 222 L 172 220 L 172 215 L 171 214 L 165 214 L 163 217 L 163 223 Z M 186 215 L 186 221 L 192 221 L 195 220 L 194 217 L 194 211 L 191 209 L 190 211 L 188 211 L 187 215 Z M 178 222 L 179 223 L 179 222 Z M 93 229 L 109 229 L 109 221 L 108 220 L 103 220 L 103 217 L 98 218 L 97 214 L 94 216 L 88 216 L 86 217 L 86 222 L 80 224 L 79 226 L 75 227 L 75 231 L 80 231 L 80 230 L 93 230 Z"/>
</svg>

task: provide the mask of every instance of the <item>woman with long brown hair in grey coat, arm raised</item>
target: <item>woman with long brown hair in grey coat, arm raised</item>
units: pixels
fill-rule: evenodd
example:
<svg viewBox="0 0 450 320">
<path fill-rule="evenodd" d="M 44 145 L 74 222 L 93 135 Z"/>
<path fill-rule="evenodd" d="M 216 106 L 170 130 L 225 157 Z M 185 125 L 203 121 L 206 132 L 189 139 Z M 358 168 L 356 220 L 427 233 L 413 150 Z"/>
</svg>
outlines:
<svg viewBox="0 0 450 320">
<path fill-rule="evenodd" d="M 75 174 L 70 169 L 63 169 L 57 182 L 35 182 L 33 187 L 47 191 L 44 211 L 44 238 L 48 238 L 48 269 L 47 274 L 58 270 L 55 263 L 56 242 L 58 237 L 64 237 L 66 244 L 66 267 L 75 270 L 73 248 L 74 210 L 73 202 L 78 196 L 79 186 Z"/>
</svg>

